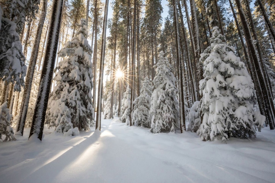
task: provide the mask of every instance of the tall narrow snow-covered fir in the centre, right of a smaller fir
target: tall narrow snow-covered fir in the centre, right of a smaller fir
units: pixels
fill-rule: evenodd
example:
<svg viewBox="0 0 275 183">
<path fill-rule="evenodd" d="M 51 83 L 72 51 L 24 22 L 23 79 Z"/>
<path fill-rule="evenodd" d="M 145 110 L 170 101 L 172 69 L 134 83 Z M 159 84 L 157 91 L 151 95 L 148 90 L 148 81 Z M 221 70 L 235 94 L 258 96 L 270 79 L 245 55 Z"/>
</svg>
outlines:
<svg viewBox="0 0 275 183">
<path fill-rule="evenodd" d="M 156 76 L 153 80 L 150 118 L 151 132 L 174 132 L 179 129 L 179 108 L 177 99 L 176 78 L 171 72 L 167 57 L 160 52 L 160 60 L 156 64 Z"/>
</svg>

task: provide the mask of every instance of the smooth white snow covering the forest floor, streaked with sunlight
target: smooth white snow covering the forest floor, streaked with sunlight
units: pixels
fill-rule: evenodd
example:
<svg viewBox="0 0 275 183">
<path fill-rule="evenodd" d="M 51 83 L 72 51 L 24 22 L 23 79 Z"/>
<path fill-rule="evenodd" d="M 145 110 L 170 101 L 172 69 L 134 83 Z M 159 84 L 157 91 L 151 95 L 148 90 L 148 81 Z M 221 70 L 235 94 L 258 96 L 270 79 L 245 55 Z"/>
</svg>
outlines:
<svg viewBox="0 0 275 183">
<path fill-rule="evenodd" d="M 45 126 L 42 143 L 28 141 L 29 130 L 0 143 L 0 182 L 275 182 L 275 130 L 267 127 L 227 144 L 191 132 L 152 134 L 118 119 L 80 136 Z"/>
</svg>

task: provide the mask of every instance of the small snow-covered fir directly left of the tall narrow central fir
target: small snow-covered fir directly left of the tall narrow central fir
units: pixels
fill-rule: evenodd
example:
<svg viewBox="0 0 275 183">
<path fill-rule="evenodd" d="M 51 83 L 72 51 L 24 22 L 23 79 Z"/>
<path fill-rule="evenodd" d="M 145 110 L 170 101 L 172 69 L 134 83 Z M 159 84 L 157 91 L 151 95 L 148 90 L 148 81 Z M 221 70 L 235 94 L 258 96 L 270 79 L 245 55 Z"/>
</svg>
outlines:
<svg viewBox="0 0 275 183">
<path fill-rule="evenodd" d="M 141 94 L 134 100 L 133 122 L 135 126 L 151 127 L 149 119 L 151 95 L 151 82 L 148 77 L 145 77 L 142 82 Z"/>
</svg>

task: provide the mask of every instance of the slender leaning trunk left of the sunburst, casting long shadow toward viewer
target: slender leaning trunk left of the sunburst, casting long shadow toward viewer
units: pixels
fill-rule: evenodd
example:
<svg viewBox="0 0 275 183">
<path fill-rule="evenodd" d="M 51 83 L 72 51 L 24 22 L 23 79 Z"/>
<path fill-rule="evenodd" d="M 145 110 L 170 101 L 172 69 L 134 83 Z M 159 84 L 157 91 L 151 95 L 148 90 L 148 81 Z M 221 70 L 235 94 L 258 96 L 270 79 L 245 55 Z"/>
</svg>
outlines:
<svg viewBox="0 0 275 183">
<path fill-rule="evenodd" d="M 102 82 L 103 82 L 103 70 L 104 70 L 104 58 L 105 58 L 105 43 L 106 43 L 106 28 L 107 28 L 107 15 L 108 15 L 109 0 L 105 2 L 104 10 L 104 22 L 102 28 L 102 44 L 101 44 L 101 58 L 99 67 L 99 80 L 98 80 L 98 94 L 97 94 L 97 120 L 96 130 L 101 130 L 101 101 L 102 101 Z"/>
</svg>

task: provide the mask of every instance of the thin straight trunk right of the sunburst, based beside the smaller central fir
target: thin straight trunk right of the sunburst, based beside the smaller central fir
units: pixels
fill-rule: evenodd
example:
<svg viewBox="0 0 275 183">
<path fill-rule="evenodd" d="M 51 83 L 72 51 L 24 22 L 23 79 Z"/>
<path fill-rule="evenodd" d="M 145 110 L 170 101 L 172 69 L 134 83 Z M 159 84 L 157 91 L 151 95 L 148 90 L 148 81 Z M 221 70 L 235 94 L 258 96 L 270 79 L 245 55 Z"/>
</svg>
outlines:
<svg viewBox="0 0 275 183">
<path fill-rule="evenodd" d="M 132 79 L 130 80 L 131 84 L 131 108 L 130 108 L 130 126 L 133 125 L 133 108 L 134 108 L 134 97 L 135 97 L 135 59 L 136 59 L 136 20 L 137 20 L 137 0 L 134 0 L 134 22 L 133 22 L 133 49 L 132 49 Z"/>
</svg>

